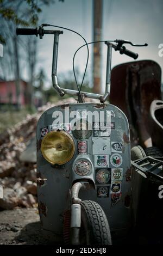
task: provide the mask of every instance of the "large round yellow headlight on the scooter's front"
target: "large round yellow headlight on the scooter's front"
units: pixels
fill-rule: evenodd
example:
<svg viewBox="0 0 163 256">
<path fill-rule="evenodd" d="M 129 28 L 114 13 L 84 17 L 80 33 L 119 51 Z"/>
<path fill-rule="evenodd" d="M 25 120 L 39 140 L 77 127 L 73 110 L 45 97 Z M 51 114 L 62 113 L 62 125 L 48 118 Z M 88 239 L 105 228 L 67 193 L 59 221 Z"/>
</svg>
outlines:
<svg viewBox="0 0 163 256">
<path fill-rule="evenodd" d="M 65 131 L 52 131 L 42 139 L 41 153 L 52 164 L 65 164 L 74 155 L 75 144 Z"/>
</svg>

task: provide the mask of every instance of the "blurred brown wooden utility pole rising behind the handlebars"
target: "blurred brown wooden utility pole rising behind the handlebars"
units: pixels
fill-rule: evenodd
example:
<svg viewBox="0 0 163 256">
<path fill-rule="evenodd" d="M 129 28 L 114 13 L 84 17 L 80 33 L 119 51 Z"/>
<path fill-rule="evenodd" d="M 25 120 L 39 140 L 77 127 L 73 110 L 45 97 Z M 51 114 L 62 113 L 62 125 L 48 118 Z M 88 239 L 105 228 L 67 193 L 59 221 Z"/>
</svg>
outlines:
<svg viewBox="0 0 163 256">
<path fill-rule="evenodd" d="M 102 40 L 103 0 L 93 0 L 93 41 Z M 101 44 L 93 44 L 93 93 L 101 93 Z"/>
</svg>

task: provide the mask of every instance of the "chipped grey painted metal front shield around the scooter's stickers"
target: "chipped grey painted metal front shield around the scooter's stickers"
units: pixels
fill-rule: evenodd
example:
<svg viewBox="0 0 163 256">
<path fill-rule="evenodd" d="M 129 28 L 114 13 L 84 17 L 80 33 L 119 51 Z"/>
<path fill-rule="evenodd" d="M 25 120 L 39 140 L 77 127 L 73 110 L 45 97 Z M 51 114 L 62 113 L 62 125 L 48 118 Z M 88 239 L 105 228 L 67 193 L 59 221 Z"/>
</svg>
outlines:
<svg viewBox="0 0 163 256">
<path fill-rule="evenodd" d="M 79 109 L 86 109 L 86 111 L 97 111 L 100 113 L 101 111 L 111 111 L 111 122 L 115 124 L 115 129 L 111 130 L 111 135 L 107 138 L 110 138 L 110 147 L 111 142 L 121 142 L 122 152 L 119 153 L 122 156 L 123 162 L 120 168 L 123 168 L 123 179 L 121 184 L 121 199 L 116 204 L 112 204 L 112 194 L 111 192 L 111 184 L 107 185 L 97 185 L 96 182 L 96 169 L 95 167 L 95 155 L 92 154 L 92 146 L 95 143 L 96 138 L 91 133 L 89 138 L 86 138 L 87 142 L 87 154 L 79 155 L 78 154 L 78 140 L 74 138 L 72 132 L 70 135 L 74 139 L 74 143 L 76 144 L 76 151 L 72 158 L 72 160 L 64 166 L 52 166 L 48 163 L 41 154 L 41 129 L 43 127 L 47 127 L 49 131 L 49 126 L 52 125 L 54 121 L 53 113 L 55 111 L 61 111 L 63 114 L 65 112 L 66 107 L 69 107 L 69 111 L 77 111 Z M 71 118 L 70 118 L 71 120 Z M 63 120 L 65 122 L 65 119 Z M 101 103 L 72 103 L 70 105 L 62 105 L 49 108 L 45 111 L 37 124 L 37 194 L 38 194 L 38 202 L 39 202 L 39 213 L 41 222 L 43 225 L 43 229 L 52 231 L 55 235 L 62 235 L 63 228 L 63 218 L 64 212 L 67 209 L 70 209 L 70 190 L 72 184 L 75 182 L 85 180 L 90 181 L 92 186 L 87 190 L 80 190 L 79 198 L 82 200 L 93 200 L 102 206 L 106 217 L 108 218 L 108 222 L 112 231 L 116 231 L 116 234 L 123 235 L 127 232 L 128 228 L 131 225 L 131 205 L 125 205 L 126 197 L 131 197 L 131 182 L 128 180 L 128 176 L 130 175 L 130 138 L 129 138 L 129 125 L 126 115 L 114 105 L 111 104 L 101 104 Z M 92 141 L 92 138 L 93 139 Z M 101 145 L 98 145 L 99 149 Z M 110 157 L 115 154 L 112 149 L 108 151 L 109 157 L 109 166 L 108 168 L 116 168 L 112 166 L 110 162 Z M 76 163 L 77 159 L 81 159 L 84 157 L 87 161 L 91 163 L 91 173 L 85 176 L 79 176 L 74 172 L 73 166 Z M 99 167 L 101 168 L 101 167 Z M 103 167 L 104 168 L 104 167 Z M 127 181 L 128 180 L 128 181 Z M 106 198 L 97 197 L 97 189 L 98 187 L 108 186 L 109 188 L 109 196 Z"/>
</svg>

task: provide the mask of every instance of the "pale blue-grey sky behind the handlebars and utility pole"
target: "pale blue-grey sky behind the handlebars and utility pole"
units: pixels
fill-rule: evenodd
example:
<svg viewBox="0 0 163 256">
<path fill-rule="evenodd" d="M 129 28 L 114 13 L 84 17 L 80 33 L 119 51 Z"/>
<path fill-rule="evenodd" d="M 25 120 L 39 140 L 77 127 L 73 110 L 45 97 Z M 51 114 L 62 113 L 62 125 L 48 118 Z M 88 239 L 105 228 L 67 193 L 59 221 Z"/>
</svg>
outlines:
<svg viewBox="0 0 163 256">
<path fill-rule="evenodd" d="M 93 41 L 92 23 L 93 0 L 55 0 L 55 4 L 43 7 L 40 23 L 51 23 L 67 27 L 82 34 L 87 42 Z M 102 40 L 127 39 L 135 44 L 148 43 L 148 47 L 132 47 L 129 50 L 139 53 L 139 58 L 152 59 L 161 68 L 163 57 L 159 57 L 159 44 L 163 44 L 162 0 L 103 0 Z M 39 40 L 39 38 L 37 39 Z M 60 73 L 72 70 L 73 54 L 84 44 L 78 35 L 64 31 L 59 37 L 58 79 Z M 92 47 L 90 48 L 87 76 L 92 86 Z M 43 68 L 51 83 L 53 35 L 45 35 L 39 40 L 37 68 Z M 112 67 L 120 63 L 131 62 L 132 58 L 112 52 Z M 77 54 L 76 66 L 84 71 L 86 63 L 86 47 Z M 102 44 L 102 87 L 105 86 L 106 46 Z M 80 81 L 79 81 L 80 82 Z"/>
</svg>

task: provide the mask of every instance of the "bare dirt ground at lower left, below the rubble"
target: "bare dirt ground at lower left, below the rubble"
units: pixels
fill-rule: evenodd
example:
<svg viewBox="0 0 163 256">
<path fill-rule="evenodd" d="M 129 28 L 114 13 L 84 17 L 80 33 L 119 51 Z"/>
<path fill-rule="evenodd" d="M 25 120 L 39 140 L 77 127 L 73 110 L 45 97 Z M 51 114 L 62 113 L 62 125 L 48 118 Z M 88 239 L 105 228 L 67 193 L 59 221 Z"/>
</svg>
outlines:
<svg viewBox="0 0 163 256">
<path fill-rule="evenodd" d="M 36 208 L 0 211 L 0 245 L 48 245 Z"/>
</svg>

